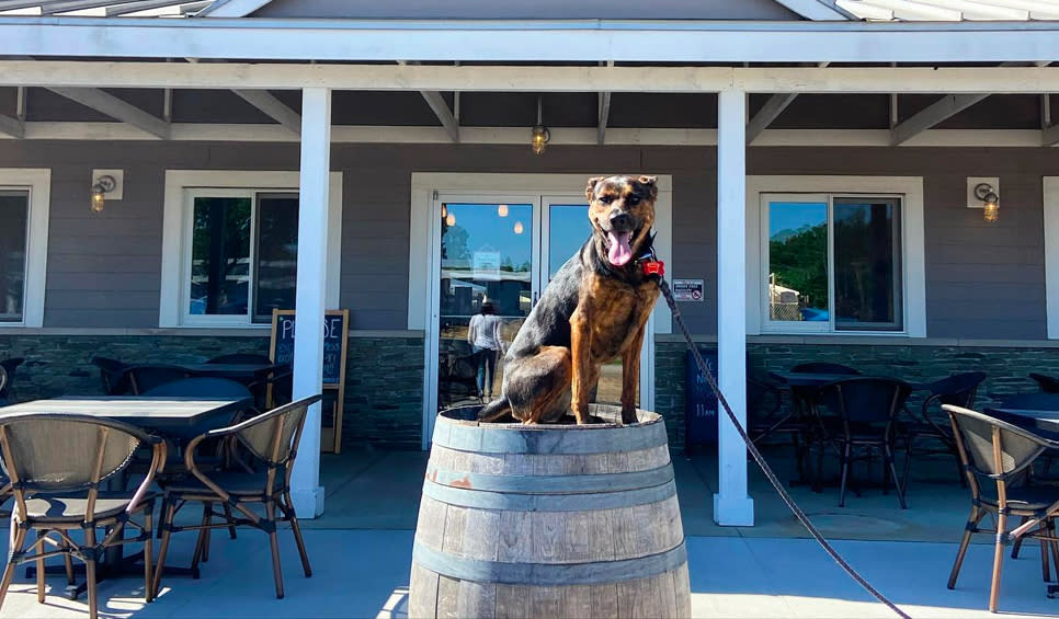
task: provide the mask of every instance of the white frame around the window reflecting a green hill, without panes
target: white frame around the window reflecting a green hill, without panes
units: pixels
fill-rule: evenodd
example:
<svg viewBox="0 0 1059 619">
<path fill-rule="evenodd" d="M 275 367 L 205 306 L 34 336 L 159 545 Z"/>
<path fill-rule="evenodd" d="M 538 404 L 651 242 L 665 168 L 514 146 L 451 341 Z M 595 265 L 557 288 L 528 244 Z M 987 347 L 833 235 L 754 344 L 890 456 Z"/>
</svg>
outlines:
<svg viewBox="0 0 1059 619">
<path fill-rule="evenodd" d="M 899 198 L 901 203 L 901 305 L 903 329 L 835 330 L 830 316 L 825 329 L 768 319 L 766 197 L 788 202 L 823 198 L 828 205 L 829 306 L 834 302 L 833 200 L 843 197 Z M 789 199 L 788 199 L 789 198 Z M 812 335 L 828 337 L 925 337 L 926 274 L 922 176 L 762 176 L 747 177 L 747 333 L 751 335 Z M 832 312 L 833 313 L 833 312 Z"/>
</svg>

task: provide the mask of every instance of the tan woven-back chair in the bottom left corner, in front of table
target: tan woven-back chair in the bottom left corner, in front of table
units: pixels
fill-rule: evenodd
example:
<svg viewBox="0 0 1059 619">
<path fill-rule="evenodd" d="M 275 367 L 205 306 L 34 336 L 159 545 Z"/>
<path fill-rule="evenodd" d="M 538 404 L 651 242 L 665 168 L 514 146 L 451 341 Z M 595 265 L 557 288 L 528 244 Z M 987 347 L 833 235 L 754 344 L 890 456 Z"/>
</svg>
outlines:
<svg viewBox="0 0 1059 619">
<path fill-rule="evenodd" d="M 135 492 L 101 492 L 101 482 L 121 474 L 133 452 L 150 445 L 152 468 Z M 14 506 L 11 547 L 0 582 L 0 605 L 15 569 L 36 562 L 37 601 L 44 604 L 44 562 L 61 555 L 69 584 L 73 584 L 70 558 L 84 563 L 89 616 L 96 616 L 96 561 L 111 548 L 144 543 L 144 598 L 153 599 L 151 563 L 151 512 L 155 496 L 148 492 L 155 472 L 166 461 L 166 444 L 139 428 L 89 415 L 30 413 L 0 419 L 0 450 L 11 478 Z M 143 513 L 144 523 L 130 516 Z M 125 537 L 126 526 L 139 532 Z M 96 531 L 106 528 L 102 539 Z M 33 530 L 37 539 L 26 548 Z M 83 531 L 83 542 L 70 531 Z M 54 537 L 53 537 L 54 536 Z M 53 550 L 48 550 L 52 547 Z"/>
</svg>

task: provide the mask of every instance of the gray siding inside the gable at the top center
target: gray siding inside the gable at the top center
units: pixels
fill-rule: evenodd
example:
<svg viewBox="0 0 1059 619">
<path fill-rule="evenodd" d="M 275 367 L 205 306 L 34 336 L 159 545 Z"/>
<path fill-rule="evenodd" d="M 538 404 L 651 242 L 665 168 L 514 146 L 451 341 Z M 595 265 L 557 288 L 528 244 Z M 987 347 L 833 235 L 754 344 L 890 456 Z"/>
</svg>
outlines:
<svg viewBox="0 0 1059 619">
<path fill-rule="evenodd" d="M 254 18 L 452 19 L 452 20 L 798 20 L 772 0 L 274 0 Z"/>
</svg>

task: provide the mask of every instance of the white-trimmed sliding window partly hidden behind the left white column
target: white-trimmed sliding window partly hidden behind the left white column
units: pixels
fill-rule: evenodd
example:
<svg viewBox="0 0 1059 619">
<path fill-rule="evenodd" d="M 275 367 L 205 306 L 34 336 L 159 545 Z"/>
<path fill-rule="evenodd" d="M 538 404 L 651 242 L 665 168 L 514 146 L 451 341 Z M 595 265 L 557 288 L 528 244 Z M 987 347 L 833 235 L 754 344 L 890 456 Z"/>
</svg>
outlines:
<svg viewBox="0 0 1059 619">
<path fill-rule="evenodd" d="M 160 326 L 257 326 L 293 309 L 298 173 L 170 171 Z M 327 303 L 339 306 L 341 174 L 330 183 Z"/>
</svg>

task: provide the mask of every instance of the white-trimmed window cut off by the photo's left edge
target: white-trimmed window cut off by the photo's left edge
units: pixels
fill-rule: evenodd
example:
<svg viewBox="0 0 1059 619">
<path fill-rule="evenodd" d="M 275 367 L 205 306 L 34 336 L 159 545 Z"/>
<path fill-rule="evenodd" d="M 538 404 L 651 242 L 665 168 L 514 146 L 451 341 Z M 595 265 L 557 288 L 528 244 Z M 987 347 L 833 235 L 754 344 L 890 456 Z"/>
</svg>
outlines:
<svg viewBox="0 0 1059 619">
<path fill-rule="evenodd" d="M 49 170 L 0 170 L 0 326 L 43 326 Z"/>
</svg>

